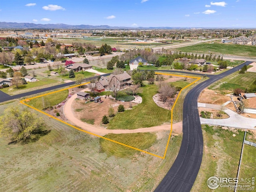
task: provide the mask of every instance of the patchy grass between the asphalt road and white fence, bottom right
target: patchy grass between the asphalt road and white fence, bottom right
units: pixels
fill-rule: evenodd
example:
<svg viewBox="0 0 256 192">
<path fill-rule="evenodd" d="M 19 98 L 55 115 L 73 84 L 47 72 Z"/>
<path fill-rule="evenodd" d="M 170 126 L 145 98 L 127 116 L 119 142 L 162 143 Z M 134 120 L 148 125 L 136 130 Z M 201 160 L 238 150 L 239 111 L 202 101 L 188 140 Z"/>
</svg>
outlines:
<svg viewBox="0 0 256 192">
<path fill-rule="evenodd" d="M 235 178 L 238 170 L 240 153 L 244 139 L 244 131 L 216 126 L 202 125 L 204 137 L 204 153 L 198 176 L 192 192 L 211 192 L 206 182 L 209 177 Z M 233 137 L 232 135 L 236 136 Z M 245 151 L 244 151 L 245 153 Z M 255 158 L 255 154 L 254 154 Z M 244 161 L 246 164 L 247 162 Z M 256 172 L 255 166 L 250 166 Z M 248 173 L 246 173 L 248 175 Z M 249 177 L 249 176 L 246 176 Z M 217 189 L 220 192 L 230 191 L 228 188 Z"/>
</svg>

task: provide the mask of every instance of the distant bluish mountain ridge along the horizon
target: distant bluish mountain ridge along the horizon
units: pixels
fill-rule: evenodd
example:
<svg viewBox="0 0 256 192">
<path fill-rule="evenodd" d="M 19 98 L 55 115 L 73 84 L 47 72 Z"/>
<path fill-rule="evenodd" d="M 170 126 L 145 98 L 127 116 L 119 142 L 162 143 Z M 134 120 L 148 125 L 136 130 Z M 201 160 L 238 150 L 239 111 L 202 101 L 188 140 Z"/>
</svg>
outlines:
<svg viewBox="0 0 256 192">
<path fill-rule="evenodd" d="M 0 28 L 14 29 L 178 29 L 179 27 L 112 27 L 108 25 L 67 25 L 67 24 L 34 24 L 34 23 L 16 23 L 0 22 Z"/>
</svg>

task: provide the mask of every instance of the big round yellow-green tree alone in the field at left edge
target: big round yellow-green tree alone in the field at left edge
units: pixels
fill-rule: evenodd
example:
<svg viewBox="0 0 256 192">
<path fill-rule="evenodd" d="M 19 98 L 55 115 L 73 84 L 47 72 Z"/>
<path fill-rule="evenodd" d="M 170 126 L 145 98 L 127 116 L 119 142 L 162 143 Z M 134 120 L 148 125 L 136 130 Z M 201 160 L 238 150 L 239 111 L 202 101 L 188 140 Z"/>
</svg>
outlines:
<svg viewBox="0 0 256 192">
<path fill-rule="evenodd" d="M 43 126 L 44 120 L 28 108 L 11 106 L 0 117 L 0 135 L 10 138 L 11 142 L 36 140 Z"/>
</svg>

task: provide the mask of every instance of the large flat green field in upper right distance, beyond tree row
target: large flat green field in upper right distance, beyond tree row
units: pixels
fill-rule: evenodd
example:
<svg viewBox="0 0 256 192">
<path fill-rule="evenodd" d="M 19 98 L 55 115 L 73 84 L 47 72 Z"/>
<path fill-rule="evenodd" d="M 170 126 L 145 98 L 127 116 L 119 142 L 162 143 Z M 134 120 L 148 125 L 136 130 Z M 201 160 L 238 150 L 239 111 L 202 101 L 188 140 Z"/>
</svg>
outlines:
<svg viewBox="0 0 256 192">
<path fill-rule="evenodd" d="M 236 44 L 224 43 L 201 43 L 192 46 L 177 48 L 177 51 L 188 53 L 204 53 L 204 54 L 228 54 L 244 57 L 256 57 L 256 46 L 244 46 Z"/>
</svg>

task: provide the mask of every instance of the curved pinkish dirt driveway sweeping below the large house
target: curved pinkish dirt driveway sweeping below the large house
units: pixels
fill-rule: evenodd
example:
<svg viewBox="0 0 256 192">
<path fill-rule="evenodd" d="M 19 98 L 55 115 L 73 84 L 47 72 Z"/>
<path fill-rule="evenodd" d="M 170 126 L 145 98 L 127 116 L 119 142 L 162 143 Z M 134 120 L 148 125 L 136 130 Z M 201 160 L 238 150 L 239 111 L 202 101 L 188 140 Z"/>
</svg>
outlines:
<svg viewBox="0 0 256 192">
<path fill-rule="evenodd" d="M 140 128 L 140 129 L 134 129 L 134 130 L 108 130 L 106 128 L 96 126 L 96 125 L 91 125 L 87 124 L 85 122 L 82 122 L 79 118 L 76 117 L 74 108 L 72 108 L 72 103 L 76 99 L 76 94 L 74 94 L 66 104 L 64 105 L 64 114 L 66 118 L 72 122 L 75 126 L 78 126 L 82 128 L 83 130 L 86 130 L 90 133 L 97 134 L 100 136 L 104 136 L 109 133 L 114 133 L 114 134 L 123 134 L 123 133 L 139 133 L 139 132 L 157 132 L 160 130 L 170 130 L 170 124 L 164 124 L 160 126 L 154 126 L 154 127 L 149 127 L 149 128 Z M 172 125 L 172 130 L 175 133 L 181 134 L 182 133 L 182 122 L 178 122 L 176 124 Z"/>
</svg>

